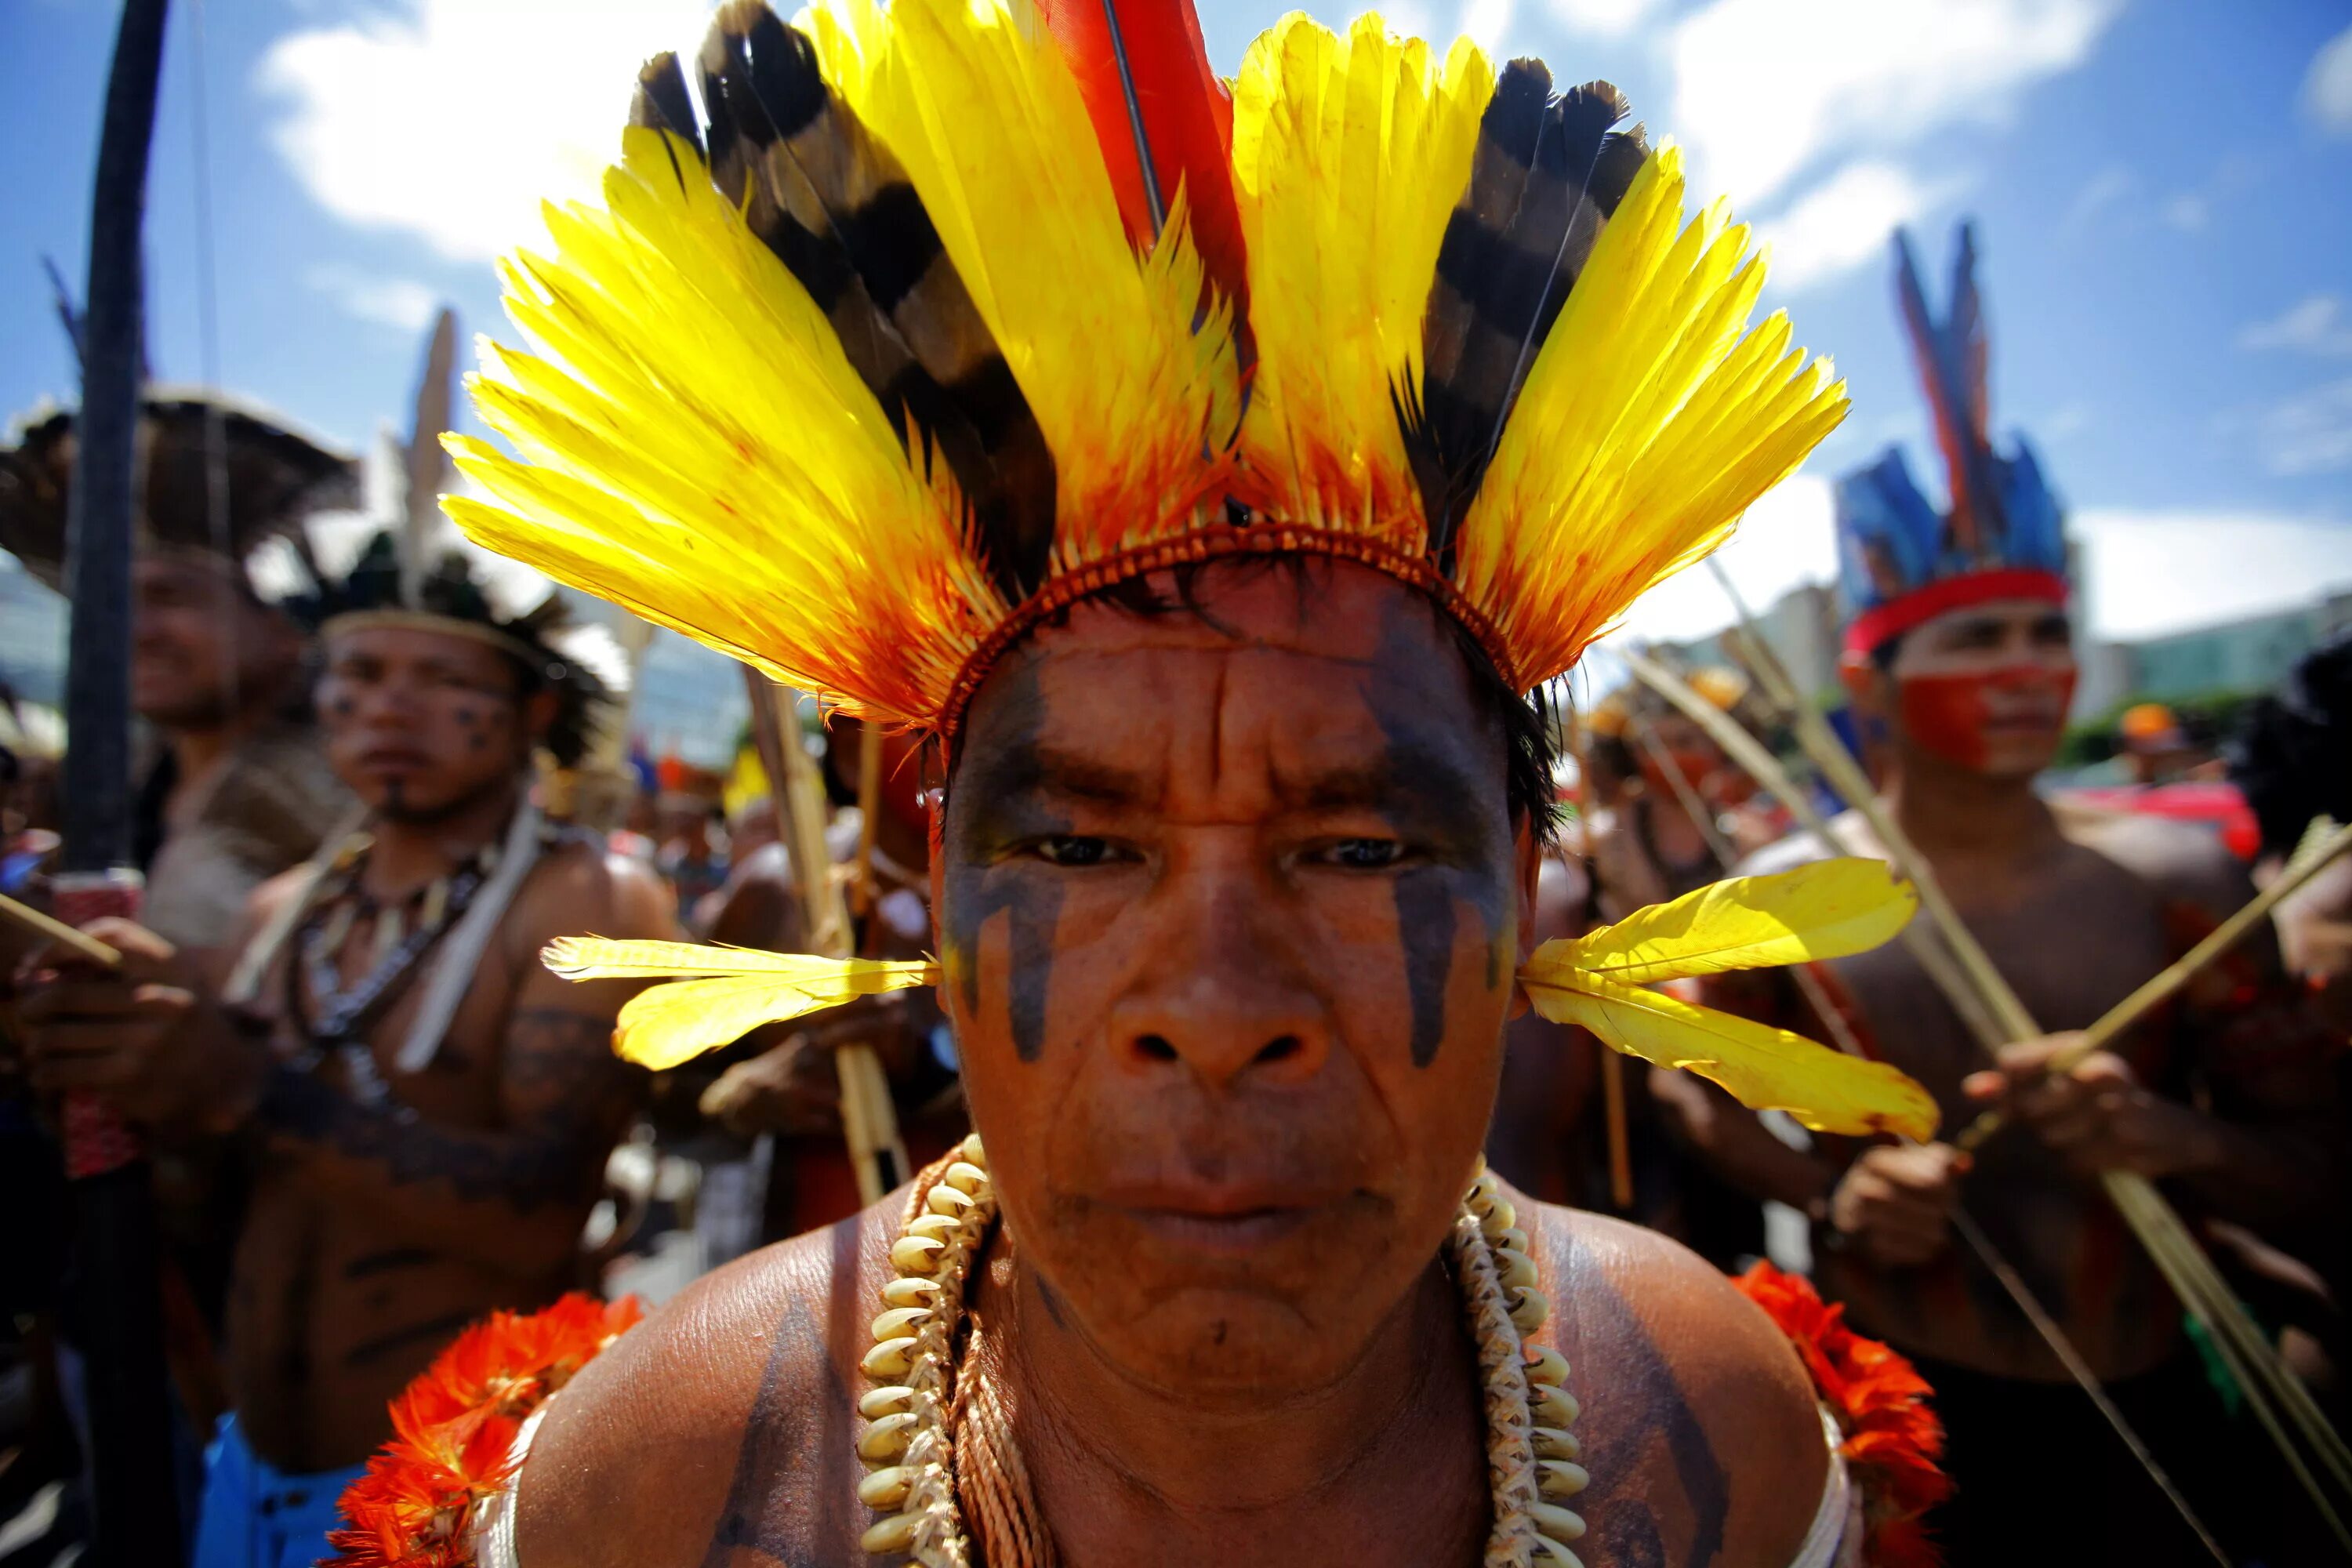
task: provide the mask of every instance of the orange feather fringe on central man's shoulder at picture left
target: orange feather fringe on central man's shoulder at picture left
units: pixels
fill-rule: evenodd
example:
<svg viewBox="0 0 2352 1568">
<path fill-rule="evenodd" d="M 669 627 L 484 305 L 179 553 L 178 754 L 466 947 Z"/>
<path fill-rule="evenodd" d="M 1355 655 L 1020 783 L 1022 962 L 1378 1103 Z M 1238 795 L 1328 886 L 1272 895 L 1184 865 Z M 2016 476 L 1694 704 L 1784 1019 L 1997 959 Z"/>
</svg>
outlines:
<svg viewBox="0 0 2352 1568">
<path fill-rule="evenodd" d="M 343 1490 L 339 1556 L 320 1568 L 466 1568 L 475 1502 L 506 1486 L 515 1432 L 644 1309 L 574 1291 L 546 1312 L 494 1312 L 393 1401 L 393 1441 Z"/>
</svg>

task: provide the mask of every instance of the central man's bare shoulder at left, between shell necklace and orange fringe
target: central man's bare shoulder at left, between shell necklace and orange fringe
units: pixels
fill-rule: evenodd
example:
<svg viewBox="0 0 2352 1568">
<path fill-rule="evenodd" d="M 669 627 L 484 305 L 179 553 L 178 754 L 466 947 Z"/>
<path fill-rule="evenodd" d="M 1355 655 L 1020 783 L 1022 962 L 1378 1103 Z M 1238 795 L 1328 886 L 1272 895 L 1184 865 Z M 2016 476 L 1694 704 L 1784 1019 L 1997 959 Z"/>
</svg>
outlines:
<svg viewBox="0 0 2352 1568">
<path fill-rule="evenodd" d="M 898 1199 L 699 1279 L 548 1406 L 529 1568 L 856 1563 L 856 1366 Z"/>
</svg>

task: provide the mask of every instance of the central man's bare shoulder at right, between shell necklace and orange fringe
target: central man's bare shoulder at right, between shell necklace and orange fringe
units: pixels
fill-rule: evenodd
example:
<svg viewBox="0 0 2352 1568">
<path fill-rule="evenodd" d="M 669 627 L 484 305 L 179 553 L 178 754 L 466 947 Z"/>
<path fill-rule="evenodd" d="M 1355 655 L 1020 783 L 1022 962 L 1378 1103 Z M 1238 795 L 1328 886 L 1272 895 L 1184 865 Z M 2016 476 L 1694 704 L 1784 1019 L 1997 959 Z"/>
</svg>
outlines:
<svg viewBox="0 0 2352 1568">
<path fill-rule="evenodd" d="M 1592 1474 L 1585 1561 L 1780 1568 L 1828 1486 L 1813 1385 L 1780 1331 L 1689 1248 L 1522 1201 Z M 1526 1222 L 1526 1220 L 1522 1220 Z"/>
</svg>

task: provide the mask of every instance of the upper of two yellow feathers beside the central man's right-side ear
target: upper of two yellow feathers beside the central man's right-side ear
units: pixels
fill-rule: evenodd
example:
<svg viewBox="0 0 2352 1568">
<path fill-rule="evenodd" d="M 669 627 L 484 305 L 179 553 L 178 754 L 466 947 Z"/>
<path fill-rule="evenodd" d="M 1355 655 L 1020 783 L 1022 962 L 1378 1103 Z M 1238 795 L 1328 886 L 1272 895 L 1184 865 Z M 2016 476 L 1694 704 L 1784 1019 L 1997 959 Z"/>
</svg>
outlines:
<svg viewBox="0 0 2352 1568">
<path fill-rule="evenodd" d="M 1769 969 L 1867 952 L 1919 907 L 1884 860 L 1846 856 L 1776 877 L 1736 877 L 1635 910 L 1576 940 L 1552 940 L 1526 961 L 1538 983 L 1588 973 L 1653 985 L 1726 969 Z"/>
</svg>

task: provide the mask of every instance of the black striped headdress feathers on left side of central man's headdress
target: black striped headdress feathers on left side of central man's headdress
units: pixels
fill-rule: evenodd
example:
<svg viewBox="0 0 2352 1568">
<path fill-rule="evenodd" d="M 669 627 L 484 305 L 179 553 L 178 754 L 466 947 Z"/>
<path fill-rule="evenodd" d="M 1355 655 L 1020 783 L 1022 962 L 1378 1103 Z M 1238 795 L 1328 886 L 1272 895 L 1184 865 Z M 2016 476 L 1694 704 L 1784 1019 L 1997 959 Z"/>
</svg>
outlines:
<svg viewBox="0 0 2352 1568">
<path fill-rule="evenodd" d="M 633 120 L 694 139 L 675 59 Z M 710 179 L 790 268 L 858 378 L 948 463 L 1009 602 L 1054 548 L 1054 456 L 906 167 L 833 92 L 816 47 L 764 0 L 729 0 L 696 61 Z M 680 122 L 677 115 L 684 115 Z"/>
</svg>

